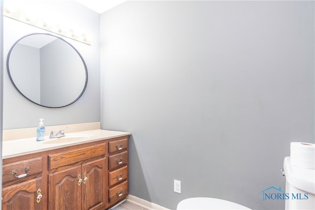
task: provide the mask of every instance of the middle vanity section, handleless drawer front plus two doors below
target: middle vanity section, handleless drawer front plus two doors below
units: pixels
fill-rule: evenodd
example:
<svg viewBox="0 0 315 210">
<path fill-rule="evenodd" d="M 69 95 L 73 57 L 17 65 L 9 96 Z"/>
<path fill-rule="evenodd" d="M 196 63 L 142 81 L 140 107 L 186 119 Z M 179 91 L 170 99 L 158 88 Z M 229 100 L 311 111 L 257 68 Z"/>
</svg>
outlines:
<svg viewBox="0 0 315 210">
<path fill-rule="evenodd" d="M 103 143 L 48 155 L 52 172 L 48 174 L 49 210 L 97 210 L 106 206 L 106 148 Z"/>
</svg>

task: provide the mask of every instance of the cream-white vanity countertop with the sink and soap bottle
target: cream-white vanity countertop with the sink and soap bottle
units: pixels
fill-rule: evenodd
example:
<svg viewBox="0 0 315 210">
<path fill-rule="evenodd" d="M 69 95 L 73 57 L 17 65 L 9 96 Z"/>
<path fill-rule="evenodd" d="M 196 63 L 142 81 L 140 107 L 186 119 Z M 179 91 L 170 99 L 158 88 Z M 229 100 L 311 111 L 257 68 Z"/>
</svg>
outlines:
<svg viewBox="0 0 315 210">
<path fill-rule="evenodd" d="M 36 142 L 36 137 L 3 141 L 2 159 L 95 142 L 99 140 L 111 139 L 115 137 L 127 136 L 130 134 L 131 133 L 129 132 L 122 131 L 95 129 L 72 133 L 65 132 L 65 137 L 55 139 L 49 139 L 48 136 L 45 136 L 45 140 L 40 142 Z"/>
</svg>

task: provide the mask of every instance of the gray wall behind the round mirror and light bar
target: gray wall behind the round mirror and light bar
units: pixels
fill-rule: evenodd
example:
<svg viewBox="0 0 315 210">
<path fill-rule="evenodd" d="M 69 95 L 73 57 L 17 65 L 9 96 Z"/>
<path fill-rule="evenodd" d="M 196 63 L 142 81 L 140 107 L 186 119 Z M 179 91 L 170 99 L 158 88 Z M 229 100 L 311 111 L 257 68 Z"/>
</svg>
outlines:
<svg viewBox="0 0 315 210">
<path fill-rule="evenodd" d="M 33 6 L 31 4 L 34 4 Z M 99 60 L 99 22 L 100 15 L 75 1 L 36 1 L 28 2 L 35 11 L 43 11 L 41 17 L 49 16 L 51 22 L 62 23 L 69 28 L 82 30 L 88 34 L 92 45 L 86 45 L 63 37 L 82 55 L 88 68 L 89 82 L 82 97 L 74 104 L 64 108 L 45 108 L 24 98 L 12 86 L 4 66 L 3 73 L 3 129 L 35 127 L 39 118 L 45 125 L 72 124 L 100 121 L 100 60 Z M 62 20 L 58 20 L 61 18 Z M 62 21 L 62 22 L 59 22 Z M 3 19 L 3 63 L 9 49 L 16 40 L 34 32 L 48 32 L 16 20 Z"/>
</svg>

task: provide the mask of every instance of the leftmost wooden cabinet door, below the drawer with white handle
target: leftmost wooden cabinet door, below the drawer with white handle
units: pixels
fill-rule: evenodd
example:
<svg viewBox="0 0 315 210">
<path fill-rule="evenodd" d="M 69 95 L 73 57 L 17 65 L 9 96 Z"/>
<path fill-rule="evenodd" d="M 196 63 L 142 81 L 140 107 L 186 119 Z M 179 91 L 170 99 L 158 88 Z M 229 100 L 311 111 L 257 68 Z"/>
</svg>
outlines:
<svg viewBox="0 0 315 210">
<path fill-rule="evenodd" d="M 37 201 L 42 179 L 23 181 L 2 189 L 2 210 L 41 210 L 43 201 Z M 41 194 L 41 193 L 40 193 Z M 44 196 L 44 195 L 43 195 Z"/>
</svg>

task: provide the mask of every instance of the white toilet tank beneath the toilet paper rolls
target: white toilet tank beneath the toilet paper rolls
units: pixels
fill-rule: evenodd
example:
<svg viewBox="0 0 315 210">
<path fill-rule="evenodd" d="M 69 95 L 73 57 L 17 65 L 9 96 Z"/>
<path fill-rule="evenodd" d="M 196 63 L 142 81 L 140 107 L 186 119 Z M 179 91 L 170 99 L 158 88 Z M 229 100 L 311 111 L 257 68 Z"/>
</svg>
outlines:
<svg viewBox="0 0 315 210">
<path fill-rule="evenodd" d="M 315 210 L 315 170 L 291 165 L 284 158 L 285 209 Z"/>
</svg>

